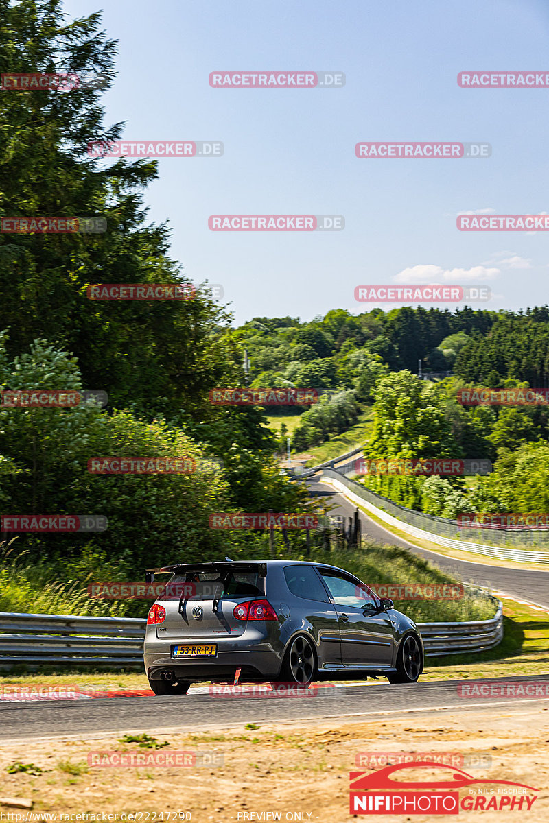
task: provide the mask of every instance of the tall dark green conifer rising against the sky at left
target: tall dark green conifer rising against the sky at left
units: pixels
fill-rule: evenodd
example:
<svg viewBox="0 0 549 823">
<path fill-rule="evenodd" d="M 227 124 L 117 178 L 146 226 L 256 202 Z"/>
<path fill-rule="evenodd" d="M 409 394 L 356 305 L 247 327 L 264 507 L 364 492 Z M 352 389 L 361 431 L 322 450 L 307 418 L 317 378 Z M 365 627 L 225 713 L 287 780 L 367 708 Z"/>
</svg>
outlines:
<svg viewBox="0 0 549 823">
<path fill-rule="evenodd" d="M 100 15 L 65 22 L 60 0 L 0 0 L 2 72 L 100 72 L 114 81 L 116 44 Z M 89 83 L 57 91 L 0 95 L 0 213 L 105 217 L 99 235 L 0 235 L 0 329 L 9 352 L 41 337 L 72 351 L 88 388 L 115 407 L 151 418 L 184 408 L 207 415 L 208 389 L 235 379 L 240 363 L 218 329 L 229 322 L 204 288 L 193 300 L 104 303 L 93 283 L 181 283 L 168 255 L 170 230 L 146 224 L 142 191 L 156 162 L 122 158 L 106 165 L 90 142 L 119 138 L 123 124 L 103 124 L 101 91 Z"/>
</svg>

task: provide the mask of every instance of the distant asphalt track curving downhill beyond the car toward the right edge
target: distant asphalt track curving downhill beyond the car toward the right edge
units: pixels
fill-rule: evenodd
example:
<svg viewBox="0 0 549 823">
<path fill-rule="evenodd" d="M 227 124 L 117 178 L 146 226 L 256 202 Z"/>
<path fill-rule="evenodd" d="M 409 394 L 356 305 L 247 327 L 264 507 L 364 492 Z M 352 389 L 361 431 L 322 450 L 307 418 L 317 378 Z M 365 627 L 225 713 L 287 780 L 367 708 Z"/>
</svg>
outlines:
<svg viewBox="0 0 549 823">
<path fill-rule="evenodd" d="M 312 495 L 326 495 L 331 504 L 337 504 L 330 514 L 344 514 L 351 517 L 356 506 L 350 503 L 342 495 L 333 491 L 331 486 L 319 483 L 319 476 L 311 477 L 308 481 Z M 464 583 L 473 583 L 479 586 L 486 586 L 494 589 L 497 593 L 507 594 L 517 600 L 532 602 L 538 606 L 549 609 L 549 571 L 505 569 L 502 566 L 484 565 L 482 563 L 470 562 L 468 560 L 454 560 L 452 557 L 444 557 L 436 551 L 427 551 L 412 546 L 411 543 L 401 537 L 394 537 L 390 532 L 375 523 L 361 510 L 361 526 L 363 537 L 371 537 L 379 543 L 391 543 L 395 546 L 404 546 L 416 555 L 425 557 L 432 563 L 436 563 L 441 569 L 447 570 Z M 441 546 L 440 551 L 444 551 Z M 365 580 L 365 583 L 368 581 Z"/>
</svg>

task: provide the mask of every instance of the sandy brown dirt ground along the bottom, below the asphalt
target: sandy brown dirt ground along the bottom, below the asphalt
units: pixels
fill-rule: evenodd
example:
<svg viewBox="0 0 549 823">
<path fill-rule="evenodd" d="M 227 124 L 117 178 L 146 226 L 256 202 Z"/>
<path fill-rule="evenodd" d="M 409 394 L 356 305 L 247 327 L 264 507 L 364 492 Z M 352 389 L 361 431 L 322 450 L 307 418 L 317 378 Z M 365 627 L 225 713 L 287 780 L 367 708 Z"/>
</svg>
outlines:
<svg viewBox="0 0 549 823">
<path fill-rule="evenodd" d="M 43 738 L 2 742 L 0 745 L 0 797 L 33 801 L 32 816 L 15 807 L 0 805 L 2 821 L 93 821 L 93 815 L 112 812 L 110 820 L 141 821 L 314 821 L 339 823 L 352 818 L 349 812 L 349 772 L 370 773 L 356 765 L 365 752 L 438 752 L 483 756 L 480 764 L 460 765 L 475 779 L 510 780 L 537 788 L 530 811 L 460 811 L 459 819 L 511 820 L 541 823 L 549 819 L 549 709 L 545 703 L 521 704 L 516 709 L 416 712 L 408 717 L 380 718 L 351 723 L 341 719 L 320 723 L 277 723 L 258 728 L 216 729 L 207 732 L 177 728 L 155 732 L 143 723 L 141 730 L 161 749 L 120 743 L 119 734 L 83 739 Z M 174 718 L 177 723 L 177 718 Z M 255 724 L 252 724 L 254 726 Z M 154 744 L 153 744 L 154 745 Z M 159 756 L 165 752 L 203 753 L 221 765 L 182 767 L 89 766 L 91 751 L 140 752 Z M 363 754 L 364 756 L 364 754 Z M 486 765 L 486 756 L 491 764 Z M 187 757 L 187 761 L 190 758 Z M 21 761 L 44 770 L 38 774 L 7 772 Z M 362 761 L 364 763 L 364 760 Z M 454 764 L 456 761 L 454 760 Z M 377 766 L 376 768 L 382 768 Z M 403 779 L 427 779 L 425 771 L 413 770 Z M 486 787 L 483 787 L 486 791 Z M 489 791 L 489 788 L 487 788 Z M 461 797 L 468 793 L 462 788 Z M 2 816 L 2 812 L 4 816 Z M 12 812 L 11 817 L 5 816 Z M 43 813 L 40 813 L 43 812 Z M 55 816 L 48 813 L 55 812 Z M 123 812 L 126 816 L 123 816 Z M 168 815 L 170 812 L 170 815 Z M 189 812 L 190 817 L 182 814 Z M 268 815 L 268 812 L 280 816 Z M 16 818 L 19 813 L 21 817 Z M 72 818 L 63 814 L 71 814 Z M 163 817 L 162 817 L 163 813 Z M 262 814 L 263 813 L 263 814 Z M 516 815 L 516 817 L 515 817 Z M 378 821 L 440 820 L 440 816 L 385 816 Z M 109 818 L 105 818 L 109 819 Z M 455 816 L 454 816 L 455 819 Z"/>
</svg>

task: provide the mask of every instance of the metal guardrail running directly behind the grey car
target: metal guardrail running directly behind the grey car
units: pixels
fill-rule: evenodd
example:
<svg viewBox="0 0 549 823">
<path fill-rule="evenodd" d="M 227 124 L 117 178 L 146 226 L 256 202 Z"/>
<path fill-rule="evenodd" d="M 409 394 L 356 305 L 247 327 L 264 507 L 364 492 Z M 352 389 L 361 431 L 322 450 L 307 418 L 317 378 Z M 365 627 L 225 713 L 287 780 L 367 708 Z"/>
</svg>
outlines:
<svg viewBox="0 0 549 823">
<path fill-rule="evenodd" d="M 503 616 L 472 623 L 418 623 L 429 657 L 482 652 L 500 643 Z M 147 621 L 0 611 L 0 669 L 16 665 L 142 667 Z"/>
</svg>

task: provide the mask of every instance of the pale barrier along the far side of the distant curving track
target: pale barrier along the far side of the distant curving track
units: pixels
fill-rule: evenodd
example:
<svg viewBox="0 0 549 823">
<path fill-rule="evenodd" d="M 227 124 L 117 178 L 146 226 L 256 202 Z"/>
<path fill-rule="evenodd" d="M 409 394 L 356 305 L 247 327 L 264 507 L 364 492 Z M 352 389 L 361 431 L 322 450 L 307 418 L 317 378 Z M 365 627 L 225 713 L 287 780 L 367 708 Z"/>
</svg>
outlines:
<svg viewBox="0 0 549 823">
<path fill-rule="evenodd" d="M 468 528 L 468 537 L 482 537 L 491 540 L 492 543 L 472 542 L 460 539 L 460 529 L 456 520 L 435 517 L 433 514 L 423 514 L 414 509 L 407 509 L 393 500 L 378 495 L 375 491 L 370 491 L 361 483 L 350 480 L 345 474 L 334 468 L 326 468 L 323 475 L 332 484 L 340 486 L 338 491 L 356 504 L 364 506 L 393 528 L 399 528 L 402 532 L 428 540 L 438 546 L 447 546 L 461 551 L 471 551 L 476 555 L 495 557 L 500 560 L 517 560 L 528 563 L 549 563 L 549 532 L 539 532 L 533 529 L 524 529 L 520 532 L 511 532 L 503 529 L 495 532 L 491 529 Z M 461 530 L 463 533 L 463 529 Z M 530 546 L 524 546 L 524 542 L 529 542 Z M 499 545 L 498 545 L 499 543 Z M 515 544 L 515 546 L 510 545 Z M 519 544 L 519 545 L 517 545 Z M 522 545 L 521 545 L 522 544 Z M 545 545 L 544 545 L 545 544 Z M 536 548 L 538 546 L 538 548 Z"/>
</svg>

